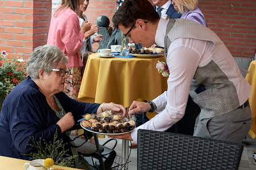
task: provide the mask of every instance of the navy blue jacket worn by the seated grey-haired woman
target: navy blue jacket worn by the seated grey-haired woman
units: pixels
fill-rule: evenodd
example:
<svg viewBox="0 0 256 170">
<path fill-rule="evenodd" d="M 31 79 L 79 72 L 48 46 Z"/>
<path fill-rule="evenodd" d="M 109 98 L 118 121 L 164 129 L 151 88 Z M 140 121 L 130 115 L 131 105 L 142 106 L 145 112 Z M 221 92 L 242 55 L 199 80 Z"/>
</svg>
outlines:
<svg viewBox="0 0 256 170">
<path fill-rule="evenodd" d="M 96 113 L 100 104 L 89 104 L 69 98 L 65 93 L 55 94 L 66 113 L 72 112 L 76 120 L 84 113 Z M 28 77 L 18 84 L 6 97 L 0 114 L 0 155 L 26 159 L 29 157 L 20 153 L 35 152 L 30 136 L 34 141 L 52 141 L 56 129 L 58 139 L 67 137 L 61 134 L 60 119 L 48 105 L 44 94 L 40 92 L 34 81 Z"/>
</svg>

